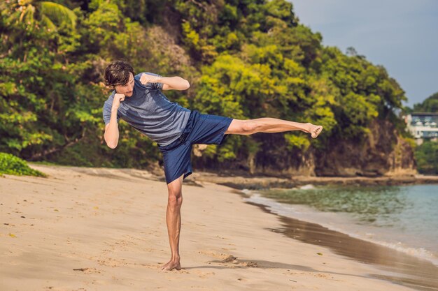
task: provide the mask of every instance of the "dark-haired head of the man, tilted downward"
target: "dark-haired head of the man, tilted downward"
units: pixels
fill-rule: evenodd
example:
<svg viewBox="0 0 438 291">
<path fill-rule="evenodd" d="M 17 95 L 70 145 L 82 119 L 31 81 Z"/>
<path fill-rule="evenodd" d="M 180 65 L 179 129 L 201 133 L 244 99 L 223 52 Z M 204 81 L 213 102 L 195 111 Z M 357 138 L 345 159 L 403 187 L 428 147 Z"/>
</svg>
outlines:
<svg viewBox="0 0 438 291">
<path fill-rule="evenodd" d="M 126 61 L 113 61 L 105 69 L 105 84 L 116 93 L 132 96 L 134 91 L 134 68 Z"/>
</svg>

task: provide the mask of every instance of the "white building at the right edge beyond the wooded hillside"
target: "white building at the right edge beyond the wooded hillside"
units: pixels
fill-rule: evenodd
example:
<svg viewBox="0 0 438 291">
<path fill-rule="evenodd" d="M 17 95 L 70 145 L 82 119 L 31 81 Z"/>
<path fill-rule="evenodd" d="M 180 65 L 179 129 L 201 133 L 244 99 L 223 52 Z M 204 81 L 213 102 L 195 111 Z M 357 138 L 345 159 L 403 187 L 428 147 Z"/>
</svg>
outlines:
<svg viewBox="0 0 438 291">
<path fill-rule="evenodd" d="M 425 138 L 437 140 L 438 113 L 412 113 L 408 114 L 404 121 L 417 144 L 422 144 Z"/>
</svg>

